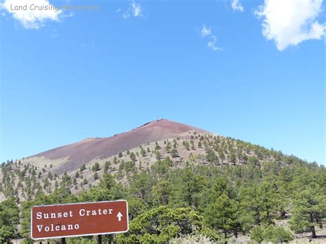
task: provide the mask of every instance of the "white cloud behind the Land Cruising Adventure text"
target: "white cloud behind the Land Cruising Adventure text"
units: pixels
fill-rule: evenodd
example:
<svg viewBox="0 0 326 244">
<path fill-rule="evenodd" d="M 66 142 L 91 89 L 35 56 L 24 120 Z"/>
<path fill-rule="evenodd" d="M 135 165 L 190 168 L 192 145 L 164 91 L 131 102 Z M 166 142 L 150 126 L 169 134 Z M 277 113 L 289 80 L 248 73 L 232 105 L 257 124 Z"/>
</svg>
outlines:
<svg viewBox="0 0 326 244">
<path fill-rule="evenodd" d="M 4 0 L 0 9 L 7 10 L 26 29 L 39 29 L 48 20 L 59 21 L 63 14 L 47 0 Z"/>
</svg>

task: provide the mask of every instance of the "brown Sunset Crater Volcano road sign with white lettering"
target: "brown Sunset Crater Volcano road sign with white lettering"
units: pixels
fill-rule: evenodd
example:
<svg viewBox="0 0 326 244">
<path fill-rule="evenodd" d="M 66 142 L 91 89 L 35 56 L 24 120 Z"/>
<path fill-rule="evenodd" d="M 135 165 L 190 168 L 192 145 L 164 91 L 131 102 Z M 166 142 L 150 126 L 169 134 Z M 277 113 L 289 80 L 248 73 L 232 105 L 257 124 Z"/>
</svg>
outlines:
<svg viewBox="0 0 326 244">
<path fill-rule="evenodd" d="M 53 239 L 127 232 L 128 203 L 124 200 L 34 206 L 32 239 Z"/>
</svg>

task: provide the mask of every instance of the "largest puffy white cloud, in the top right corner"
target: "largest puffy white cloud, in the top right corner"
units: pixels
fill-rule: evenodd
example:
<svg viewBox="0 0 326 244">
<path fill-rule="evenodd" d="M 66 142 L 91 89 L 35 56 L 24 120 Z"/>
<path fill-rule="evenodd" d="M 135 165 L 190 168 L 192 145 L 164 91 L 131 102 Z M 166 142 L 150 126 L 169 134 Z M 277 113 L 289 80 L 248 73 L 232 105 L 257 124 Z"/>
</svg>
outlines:
<svg viewBox="0 0 326 244">
<path fill-rule="evenodd" d="M 322 3 L 323 0 L 265 0 L 255 14 L 263 18 L 263 36 L 274 40 L 282 51 L 290 45 L 325 36 L 326 24 L 316 21 Z"/>
</svg>

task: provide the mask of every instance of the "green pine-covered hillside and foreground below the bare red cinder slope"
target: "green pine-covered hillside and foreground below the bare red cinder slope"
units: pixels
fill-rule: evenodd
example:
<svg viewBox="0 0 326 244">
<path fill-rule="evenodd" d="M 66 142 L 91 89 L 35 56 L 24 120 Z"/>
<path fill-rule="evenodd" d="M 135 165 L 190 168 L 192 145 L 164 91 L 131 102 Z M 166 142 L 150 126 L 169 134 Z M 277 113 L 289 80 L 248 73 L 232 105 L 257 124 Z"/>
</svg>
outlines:
<svg viewBox="0 0 326 244">
<path fill-rule="evenodd" d="M 61 174 L 38 160 L 1 164 L 1 241 L 30 241 L 34 205 L 113 199 L 127 199 L 130 228 L 107 241 L 326 241 L 325 168 L 230 137 L 189 131 Z"/>
</svg>

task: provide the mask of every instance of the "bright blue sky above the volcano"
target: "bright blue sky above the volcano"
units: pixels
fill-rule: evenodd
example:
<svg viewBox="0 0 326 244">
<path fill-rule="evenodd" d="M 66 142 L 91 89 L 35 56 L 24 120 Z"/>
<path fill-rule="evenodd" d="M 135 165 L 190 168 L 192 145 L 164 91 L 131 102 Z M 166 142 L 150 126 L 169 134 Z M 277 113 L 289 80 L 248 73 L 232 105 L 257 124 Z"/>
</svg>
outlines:
<svg viewBox="0 0 326 244">
<path fill-rule="evenodd" d="M 1 162 L 167 118 L 325 164 L 325 3 L 296 2 L 2 5 Z"/>
</svg>

